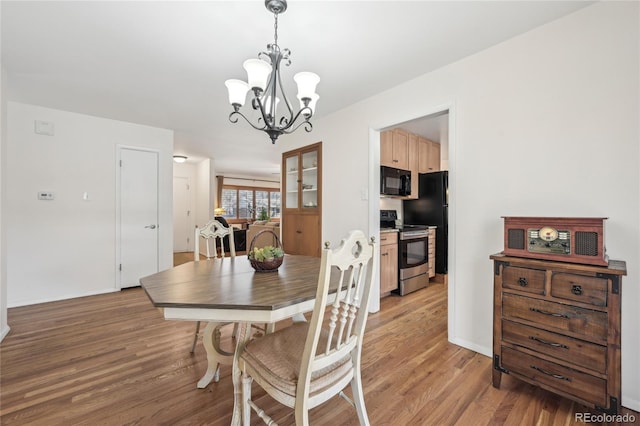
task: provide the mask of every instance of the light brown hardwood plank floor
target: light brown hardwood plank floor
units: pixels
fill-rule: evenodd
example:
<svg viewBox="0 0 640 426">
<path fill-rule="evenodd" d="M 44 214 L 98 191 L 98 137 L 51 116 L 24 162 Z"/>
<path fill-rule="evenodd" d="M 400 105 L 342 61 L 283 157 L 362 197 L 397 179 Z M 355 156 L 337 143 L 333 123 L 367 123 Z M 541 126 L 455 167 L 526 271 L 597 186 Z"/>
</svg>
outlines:
<svg viewBox="0 0 640 426">
<path fill-rule="evenodd" d="M 443 284 L 386 297 L 369 316 L 362 373 L 372 425 L 572 425 L 588 411 L 508 375 L 494 389 L 491 360 L 447 342 L 446 318 Z M 197 389 L 206 357 L 202 345 L 189 353 L 194 324 L 165 321 L 140 288 L 12 308 L 9 324 L 2 425 L 230 423 L 230 367 Z M 253 388 L 281 425 L 294 424 L 289 409 Z M 356 425 L 357 416 L 337 398 L 312 410 L 311 422 Z"/>
</svg>

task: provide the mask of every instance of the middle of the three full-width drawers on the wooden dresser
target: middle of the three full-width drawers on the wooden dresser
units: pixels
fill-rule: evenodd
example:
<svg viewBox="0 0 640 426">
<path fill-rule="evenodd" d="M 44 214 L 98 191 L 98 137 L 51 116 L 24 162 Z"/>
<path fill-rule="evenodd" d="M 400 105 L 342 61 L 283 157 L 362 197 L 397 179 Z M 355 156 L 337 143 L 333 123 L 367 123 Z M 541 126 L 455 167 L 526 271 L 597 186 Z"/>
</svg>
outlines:
<svg viewBox="0 0 640 426">
<path fill-rule="evenodd" d="M 607 348 L 539 328 L 502 321 L 502 340 L 598 373 L 607 369 Z"/>
</svg>

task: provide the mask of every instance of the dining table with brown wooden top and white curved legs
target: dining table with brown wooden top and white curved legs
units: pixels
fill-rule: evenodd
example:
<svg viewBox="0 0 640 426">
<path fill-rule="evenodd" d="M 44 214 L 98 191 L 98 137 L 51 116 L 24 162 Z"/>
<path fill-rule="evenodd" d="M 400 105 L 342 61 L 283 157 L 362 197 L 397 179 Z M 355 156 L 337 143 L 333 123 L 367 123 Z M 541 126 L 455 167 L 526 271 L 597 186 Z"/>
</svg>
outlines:
<svg viewBox="0 0 640 426">
<path fill-rule="evenodd" d="M 246 256 L 213 258 L 184 263 L 140 279 L 153 306 L 162 308 L 167 320 L 207 322 L 203 345 L 207 371 L 198 388 L 218 380 L 218 363 L 232 365 L 232 425 L 242 422 L 241 372 L 238 355 L 250 337 L 251 324 L 268 324 L 313 310 L 320 258 L 284 256 L 277 271 L 258 272 Z M 220 323 L 238 323 L 235 349 L 214 347 Z"/>
</svg>

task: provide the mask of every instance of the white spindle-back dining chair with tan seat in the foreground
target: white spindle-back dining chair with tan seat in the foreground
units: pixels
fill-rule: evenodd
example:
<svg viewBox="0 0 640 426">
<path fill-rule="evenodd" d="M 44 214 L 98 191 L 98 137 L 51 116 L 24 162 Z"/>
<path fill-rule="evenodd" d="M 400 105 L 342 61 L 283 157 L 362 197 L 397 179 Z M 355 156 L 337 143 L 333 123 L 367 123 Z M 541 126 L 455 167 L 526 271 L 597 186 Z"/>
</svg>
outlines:
<svg viewBox="0 0 640 426">
<path fill-rule="evenodd" d="M 250 340 L 239 354 L 244 425 L 252 410 L 276 424 L 251 399 L 254 381 L 294 409 L 296 425 L 308 425 L 308 411 L 336 394 L 355 407 L 361 425 L 369 425 L 360 364 L 377 259 L 373 238 L 361 231 L 351 231 L 335 249 L 325 243 L 311 320 Z M 349 384 L 353 400 L 343 392 Z"/>
</svg>

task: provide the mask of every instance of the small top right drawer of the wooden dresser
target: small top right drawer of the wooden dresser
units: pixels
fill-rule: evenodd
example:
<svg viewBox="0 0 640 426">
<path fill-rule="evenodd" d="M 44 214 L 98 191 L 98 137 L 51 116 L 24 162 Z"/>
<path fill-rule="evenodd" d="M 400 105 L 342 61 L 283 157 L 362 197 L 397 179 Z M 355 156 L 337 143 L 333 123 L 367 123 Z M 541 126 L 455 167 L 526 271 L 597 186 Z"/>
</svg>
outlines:
<svg viewBox="0 0 640 426">
<path fill-rule="evenodd" d="M 551 277 L 551 295 L 560 299 L 607 306 L 608 280 L 585 275 L 554 273 Z"/>
</svg>

